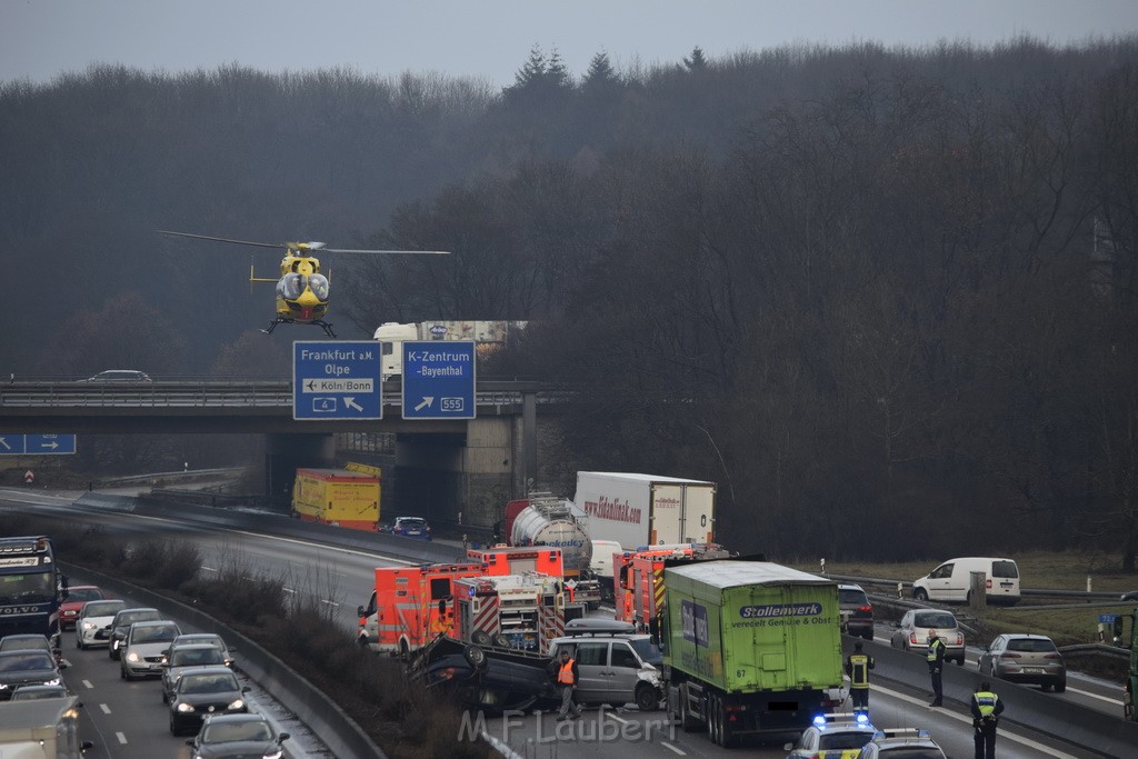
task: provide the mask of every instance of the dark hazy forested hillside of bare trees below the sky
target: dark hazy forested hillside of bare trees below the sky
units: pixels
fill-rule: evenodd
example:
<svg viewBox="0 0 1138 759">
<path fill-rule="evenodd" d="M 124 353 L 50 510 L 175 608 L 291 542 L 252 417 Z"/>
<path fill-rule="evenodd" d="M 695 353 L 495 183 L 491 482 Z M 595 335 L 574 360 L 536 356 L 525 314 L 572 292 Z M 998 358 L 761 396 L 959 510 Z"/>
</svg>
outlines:
<svg viewBox="0 0 1138 759">
<path fill-rule="evenodd" d="M 453 250 L 329 259 L 330 321 L 534 321 L 498 370 L 587 399 L 555 489 L 712 479 L 720 536 L 770 555 L 1133 568 L 1138 39 L 578 75 L 535 48 L 503 92 L 100 67 L 6 83 L 0 151 L 17 371 L 248 372 L 318 337 L 254 347 L 246 251 L 158 229 Z"/>
</svg>

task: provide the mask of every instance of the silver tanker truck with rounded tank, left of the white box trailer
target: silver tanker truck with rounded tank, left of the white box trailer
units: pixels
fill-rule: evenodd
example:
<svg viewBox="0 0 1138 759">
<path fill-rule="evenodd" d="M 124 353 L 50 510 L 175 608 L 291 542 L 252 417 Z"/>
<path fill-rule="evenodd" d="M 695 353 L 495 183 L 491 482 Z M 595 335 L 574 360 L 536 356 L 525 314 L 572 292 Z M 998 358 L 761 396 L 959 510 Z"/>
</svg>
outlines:
<svg viewBox="0 0 1138 759">
<path fill-rule="evenodd" d="M 517 511 L 510 525 L 510 545 L 561 548 L 566 587 L 571 589 L 572 600 L 596 609 L 601 605 L 601 584 L 589 566 L 593 543 L 584 512 L 551 493 L 530 493 L 526 501 L 528 504 Z M 511 504 L 520 505 L 517 501 Z"/>
</svg>

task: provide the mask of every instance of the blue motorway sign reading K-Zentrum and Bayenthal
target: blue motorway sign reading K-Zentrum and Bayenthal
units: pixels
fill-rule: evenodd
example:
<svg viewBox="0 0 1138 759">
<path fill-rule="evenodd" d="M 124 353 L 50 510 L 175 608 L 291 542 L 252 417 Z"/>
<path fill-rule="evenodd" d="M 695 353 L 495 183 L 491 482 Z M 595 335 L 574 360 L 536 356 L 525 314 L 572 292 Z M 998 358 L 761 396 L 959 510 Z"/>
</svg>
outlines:
<svg viewBox="0 0 1138 759">
<path fill-rule="evenodd" d="M 403 344 L 403 418 L 475 418 L 475 341 Z"/>
</svg>

